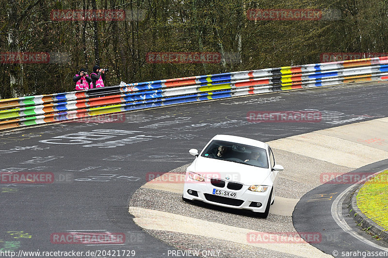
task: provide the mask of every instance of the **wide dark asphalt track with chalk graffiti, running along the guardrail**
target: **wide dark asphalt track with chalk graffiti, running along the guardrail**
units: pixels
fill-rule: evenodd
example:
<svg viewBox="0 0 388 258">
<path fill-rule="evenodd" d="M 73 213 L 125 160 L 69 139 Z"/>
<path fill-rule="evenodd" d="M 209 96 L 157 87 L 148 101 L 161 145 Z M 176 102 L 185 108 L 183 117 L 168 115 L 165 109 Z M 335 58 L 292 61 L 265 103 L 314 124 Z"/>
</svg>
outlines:
<svg viewBox="0 0 388 258">
<path fill-rule="evenodd" d="M 128 213 L 129 199 L 146 183 L 147 173 L 164 173 L 190 163 L 188 150 L 201 149 L 216 134 L 267 142 L 387 117 L 387 87 L 387 82 L 370 82 L 269 93 L 127 112 L 125 119 L 116 121 L 73 121 L 3 132 L 1 172 L 49 172 L 55 181 L 0 184 L 0 249 L 83 254 L 96 250 L 133 254 L 129 251 L 135 250 L 135 257 L 168 257 L 176 249 L 151 237 Z M 246 120 L 249 111 L 289 110 L 320 111 L 322 121 Z M 118 141 L 122 138 L 127 140 Z M 306 220 L 314 217 L 305 212 Z M 50 236 L 69 232 L 124 233 L 125 243 L 51 243 Z M 346 244 L 343 241 L 336 238 L 333 245 Z"/>
</svg>

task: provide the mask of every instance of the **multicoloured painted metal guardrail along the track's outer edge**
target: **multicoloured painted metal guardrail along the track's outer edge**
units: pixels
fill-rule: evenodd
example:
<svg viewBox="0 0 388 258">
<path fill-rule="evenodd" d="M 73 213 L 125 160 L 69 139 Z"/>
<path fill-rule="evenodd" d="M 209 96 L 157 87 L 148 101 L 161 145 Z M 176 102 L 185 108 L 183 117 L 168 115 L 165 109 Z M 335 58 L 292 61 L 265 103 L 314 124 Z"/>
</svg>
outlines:
<svg viewBox="0 0 388 258">
<path fill-rule="evenodd" d="M 388 57 L 191 76 L 0 100 L 0 130 L 141 108 L 388 79 Z"/>
</svg>

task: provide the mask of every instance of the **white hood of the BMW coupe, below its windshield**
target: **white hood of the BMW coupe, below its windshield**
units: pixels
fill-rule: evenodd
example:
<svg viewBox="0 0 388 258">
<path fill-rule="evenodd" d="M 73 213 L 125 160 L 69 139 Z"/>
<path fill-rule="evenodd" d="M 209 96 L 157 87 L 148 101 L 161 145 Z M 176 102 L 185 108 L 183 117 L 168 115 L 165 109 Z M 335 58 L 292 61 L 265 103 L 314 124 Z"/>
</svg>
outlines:
<svg viewBox="0 0 388 258">
<path fill-rule="evenodd" d="M 220 178 L 225 181 L 241 182 L 245 185 L 272 185 L 269 168 L 254 167 L 232 161 L 198 157 L 188 167 L 189 171 L 206 178 Z M 226 179 L 229 177 L 229 179 Z"/>
</svg>

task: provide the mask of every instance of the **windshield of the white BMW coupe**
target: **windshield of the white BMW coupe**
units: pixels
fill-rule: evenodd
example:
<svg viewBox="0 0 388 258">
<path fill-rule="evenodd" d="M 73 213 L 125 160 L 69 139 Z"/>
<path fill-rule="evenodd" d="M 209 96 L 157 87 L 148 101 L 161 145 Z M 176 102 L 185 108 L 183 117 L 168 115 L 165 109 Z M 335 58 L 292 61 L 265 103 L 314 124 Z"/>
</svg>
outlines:
<svg viewBox="0 0 388 258">
<path fill-rule="evenodd" d="M 267 152 L 264 149 L 235 142 L 213 140 L 201 156 L 268 168 Z"/>
</svg>

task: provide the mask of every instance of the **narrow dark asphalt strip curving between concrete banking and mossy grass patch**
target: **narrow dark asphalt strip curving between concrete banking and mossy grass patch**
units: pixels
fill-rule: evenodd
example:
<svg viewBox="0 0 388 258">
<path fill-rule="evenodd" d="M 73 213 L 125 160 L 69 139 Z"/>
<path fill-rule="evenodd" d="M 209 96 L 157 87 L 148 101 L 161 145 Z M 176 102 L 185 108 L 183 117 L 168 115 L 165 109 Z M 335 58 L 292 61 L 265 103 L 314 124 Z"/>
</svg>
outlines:
<svg viewBox="0 0 388 258">
<path fill-rule="evenodd" d="M 363 176 L 372 175 L 378 171 L 387 169 L 388 160 L 373 163 L 371 165 L 360 167 L 350 173 L 352 175 L 360 174 Z M 388 244 L 376 240 L 373 234 L 368 234 L 362 228 L 359 228 L 354 219 L 349 215 L 350 199 L 361 183 L 326 183 L 308 192 L 303 196 L 295 206 L 292 219 L 298 232 L 321 232 L 321 243 L 311 243 L 318 249 L 327 254 L 333 254 L 335 257 L 346 257 L 347 252 L 354 252 L 351 257 L 365 257 L 362 252 L 373 252 L 375 254 L 388 251 Z M 340 198 L 341 194 L 344 194 Z M 341 225 L 348 225 L 348 230 L 342 230 L 332 217 L 332 200 L 319 200 L 317 196 L 327 194 L 332 196 L 332 200 L 338 198 L 340 211 L 339 218 L 344 221 Z M 312 198 L 318 201 L 311 201 Z M 308 212 L 308 216 L 306 213 Z M 356 238 L 357 236 L 358 238 Z M 362 240 L 360 240 L 360 238 Z M 368 243 L 366 243 L 368 242 Z M 382 247 L 382 248 L 381 248 Z M 358 251 L 358 252 L 357 252 Z M 349 256 L 348 256 L 349 257 Z M 386 256 L 385 256 L 386 257 Z"/>
</svg>

